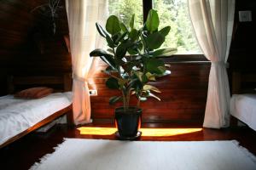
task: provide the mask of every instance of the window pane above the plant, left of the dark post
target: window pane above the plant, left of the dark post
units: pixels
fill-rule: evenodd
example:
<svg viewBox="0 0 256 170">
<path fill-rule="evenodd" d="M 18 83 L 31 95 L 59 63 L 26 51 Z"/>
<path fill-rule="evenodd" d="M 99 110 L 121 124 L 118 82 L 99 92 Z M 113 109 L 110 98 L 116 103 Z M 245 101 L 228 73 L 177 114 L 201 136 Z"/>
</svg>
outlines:
<svg viewBox="0 0 256 170">
<path fill-rule="evenodd" d="M 108 0 L 108 13 L 118 16 L 125 26 L 129 26 L 131 15 L 135 14 L 135 27 L 143 26 L 142 0 Z"/>
</svg>

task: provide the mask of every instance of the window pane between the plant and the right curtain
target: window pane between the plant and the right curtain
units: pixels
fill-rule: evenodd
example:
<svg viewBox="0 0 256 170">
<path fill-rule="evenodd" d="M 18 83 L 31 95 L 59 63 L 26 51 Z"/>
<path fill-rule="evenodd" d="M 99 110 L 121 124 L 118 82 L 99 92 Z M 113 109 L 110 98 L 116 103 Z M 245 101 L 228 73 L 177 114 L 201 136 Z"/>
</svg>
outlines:
<svg viewBox="0 0 256 170">
<path fill-rule="evenodd" d="M 160 28 L 171 26 L 162 48 L 177 48 L 177 54 L 202 54 L 195 39 L 187 0 L 153 0 L 158 11 Z"/>
</svg>

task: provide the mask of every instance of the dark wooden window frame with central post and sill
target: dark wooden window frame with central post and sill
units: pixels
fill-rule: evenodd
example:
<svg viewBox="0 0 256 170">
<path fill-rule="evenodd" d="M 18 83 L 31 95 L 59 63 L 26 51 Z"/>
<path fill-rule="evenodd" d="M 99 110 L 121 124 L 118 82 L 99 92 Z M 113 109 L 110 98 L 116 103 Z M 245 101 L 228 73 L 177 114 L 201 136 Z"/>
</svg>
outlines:
<svg viewBox="0 0 256 170">
<path fill-rule="evenodd" d="M 143 22 L 147 20 L 149 10 L 153 8 L 153 0 L 143 0 Z M 173 54 L 170 56 L 173 62 L 208 62 L 204 54 Z"/>
</svg>

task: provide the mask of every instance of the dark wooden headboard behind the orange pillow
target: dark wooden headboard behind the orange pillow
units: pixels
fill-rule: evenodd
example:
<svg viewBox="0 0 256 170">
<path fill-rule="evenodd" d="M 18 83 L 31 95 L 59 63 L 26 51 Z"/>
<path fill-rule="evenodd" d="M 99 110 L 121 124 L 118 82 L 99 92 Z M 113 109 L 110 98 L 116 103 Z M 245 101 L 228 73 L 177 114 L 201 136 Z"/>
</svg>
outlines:
<svg viewBox="0 0 256 170">
<path fill-rule="evenodd" d="M 54 88 L 55 92 L 67 92 L 72 90 L 71 73 L 62 76 L 9 76 L 7 81 L 8 93 L 14 94 L 20 90 L 18 87 L 33 88 L 47 86 Z"/>
</svg>

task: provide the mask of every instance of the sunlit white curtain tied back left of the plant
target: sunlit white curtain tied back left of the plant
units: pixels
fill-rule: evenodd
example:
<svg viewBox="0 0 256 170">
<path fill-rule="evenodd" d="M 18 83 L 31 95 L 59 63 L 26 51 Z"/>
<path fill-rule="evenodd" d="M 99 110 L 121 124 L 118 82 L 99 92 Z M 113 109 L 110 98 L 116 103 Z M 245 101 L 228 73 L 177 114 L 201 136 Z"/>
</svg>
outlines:
<svg viewBox="0 0 256 170">
<path fill-rule="evenodd" d="M 105 19 L 106 0 L 66 0 L 66 9 L 73 65 L 73 119 L 78 125 L 91 122 L 87 80 L 96 69 L 96 59 L 89 54 L 102 48 L 95 24 Z"/>
</svg>

